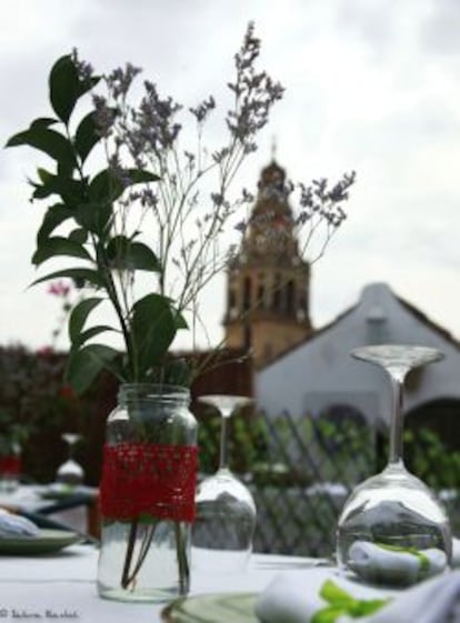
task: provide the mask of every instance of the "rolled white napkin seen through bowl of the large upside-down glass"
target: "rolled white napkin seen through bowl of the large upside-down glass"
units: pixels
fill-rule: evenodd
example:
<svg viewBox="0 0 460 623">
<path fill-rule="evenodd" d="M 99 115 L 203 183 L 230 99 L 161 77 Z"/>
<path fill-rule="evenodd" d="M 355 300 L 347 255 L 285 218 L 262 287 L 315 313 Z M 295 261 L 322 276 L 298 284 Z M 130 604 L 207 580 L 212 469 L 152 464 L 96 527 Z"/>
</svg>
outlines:
<svg viewBox="0 0 460 623">
<path fill-rule="evenodd" d="M 448 564 L 446 553 L 436 547 L 412 553 L 356 541 L 348 554 L 349 567 L 363 580 L 401 586 L 437 575 Z"/>
</svg>

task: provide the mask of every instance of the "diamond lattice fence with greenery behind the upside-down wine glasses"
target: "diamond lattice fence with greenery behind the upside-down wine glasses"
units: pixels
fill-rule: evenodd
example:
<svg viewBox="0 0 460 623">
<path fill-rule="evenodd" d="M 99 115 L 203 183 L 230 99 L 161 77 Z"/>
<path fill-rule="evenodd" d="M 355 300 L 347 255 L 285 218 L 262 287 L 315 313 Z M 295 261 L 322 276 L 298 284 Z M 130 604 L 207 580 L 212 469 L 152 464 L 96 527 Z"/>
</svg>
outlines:
<svg viewBox="0 0 460 623">
<path fill-rule="evenodd" d="M 258 509 L 254 550 L 331 555 L 340 510 L 352 488 L 383 466 L 384 441 L 352 419 L 331 422 L 309 416 L 294 419 L 288 413 L 276 419 L 258 414 L 236 416 L 231 424 L 231 468 L 251 490 Z M 456 468 L 460 454 L 447 453 L 442 443 L 430 434 L 411 432 L 408 438 L 411 471 L 438 489 L 454 530 L 460 529 L 457 482 L 452 486 L 452 473 L 458 473 L 460 479 Z M 218 445 L 219 420 L 203 418 L 200 422 L 202 475 L 216 468 Z M 452 473 L 446 463 L 440 465 L 440 456 L 452 463 Z"/>
</svg>

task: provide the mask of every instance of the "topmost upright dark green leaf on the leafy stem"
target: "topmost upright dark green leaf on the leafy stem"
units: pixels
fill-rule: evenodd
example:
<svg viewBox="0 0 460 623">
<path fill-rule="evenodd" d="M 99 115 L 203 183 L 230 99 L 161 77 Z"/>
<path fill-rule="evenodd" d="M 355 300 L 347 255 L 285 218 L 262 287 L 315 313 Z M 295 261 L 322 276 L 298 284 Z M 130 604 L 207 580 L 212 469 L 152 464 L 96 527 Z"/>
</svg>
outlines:
<svg viewBox="0 0 460 623">
<path fill-rule="evenodd" d="M 80 78 L 70 54 L 58 59 L 51 68 L 49 89 L 56 114 L 67 123 L 80 96 Z"/>
</svg>

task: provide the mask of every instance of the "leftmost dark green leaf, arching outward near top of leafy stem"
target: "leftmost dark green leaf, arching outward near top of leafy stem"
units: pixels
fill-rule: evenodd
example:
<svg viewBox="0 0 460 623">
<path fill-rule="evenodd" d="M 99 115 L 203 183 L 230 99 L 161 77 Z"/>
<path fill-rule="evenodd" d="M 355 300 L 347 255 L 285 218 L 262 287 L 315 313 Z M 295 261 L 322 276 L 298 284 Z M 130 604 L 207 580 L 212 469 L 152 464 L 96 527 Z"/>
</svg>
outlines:
<svg viewBox="0 0 460 623">
<path fill-rule="evenodd" d="M 18 145 L 29 145 L 43 151 L 53 160 L 59 161 L 66 171 L 72 171 L 76 167 L 71 143 L 56 130 L 42 125 L 30 127 L 29 130 L 11 137 L 6 147 Z"/>
</svg>

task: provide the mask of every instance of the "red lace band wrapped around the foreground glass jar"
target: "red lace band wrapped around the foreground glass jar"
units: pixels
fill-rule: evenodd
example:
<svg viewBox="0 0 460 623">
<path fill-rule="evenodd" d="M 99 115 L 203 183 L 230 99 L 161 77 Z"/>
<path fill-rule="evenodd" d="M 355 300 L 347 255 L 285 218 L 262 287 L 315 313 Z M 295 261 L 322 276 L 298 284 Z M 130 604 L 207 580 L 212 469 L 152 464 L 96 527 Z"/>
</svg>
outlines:
<svg viewBox="0 0 460 623">
<path fill-rule="evenodd" d="M 101 513 L 121 521 L 147 514 L 192 522 L 197 469 L 196 445 L 106 444 Z"/>
</svg>

